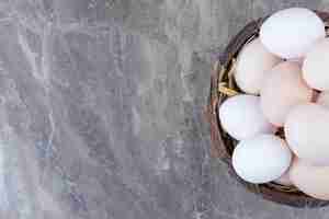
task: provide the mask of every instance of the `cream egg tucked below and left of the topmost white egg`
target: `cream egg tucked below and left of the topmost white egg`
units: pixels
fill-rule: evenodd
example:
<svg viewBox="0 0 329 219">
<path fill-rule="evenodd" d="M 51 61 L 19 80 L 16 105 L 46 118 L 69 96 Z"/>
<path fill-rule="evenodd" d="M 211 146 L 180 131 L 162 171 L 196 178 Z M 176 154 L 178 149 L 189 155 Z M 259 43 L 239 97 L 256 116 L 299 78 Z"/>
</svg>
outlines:
<svg viewBox="0 0 329 219">
<path fill-rule="evenodd" d="M 237 59 L 235 79 L 246 93 L 258 94 L 264 77 L 282 59 L 270 54 L 259 38 L 247 44 Z"/>
</svg>

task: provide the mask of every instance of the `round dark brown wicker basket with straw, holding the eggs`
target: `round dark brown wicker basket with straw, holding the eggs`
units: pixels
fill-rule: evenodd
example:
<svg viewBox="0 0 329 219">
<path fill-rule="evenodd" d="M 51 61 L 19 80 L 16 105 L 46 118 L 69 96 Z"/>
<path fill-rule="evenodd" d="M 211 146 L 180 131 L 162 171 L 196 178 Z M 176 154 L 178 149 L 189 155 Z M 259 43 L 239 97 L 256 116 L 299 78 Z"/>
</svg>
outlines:
<svg viewBox="0 0 329 219">
<path fill-rule="evenodd" d="M 329 22 L 329 13 L 319 11 L 316 11 L 316 13 L 325 21 L 326 24 Z M 293 186 L 283 186 L 275 183 L 259 185 L 247 183 L 236 175 L 231 166 L 232 150 L 238 141 L 232 139 L 223 130 L 217 108 L 218 104 L 223 103 L 223 101 L 225 101 L 228 96 L 242 93 L 234 81 L 232 72 L 235 68 L 235 60 L 243 45 L 258 36 L 259 27 L 266 18 L 262 18 L 247 24 L 231 39 L 225 51 L 219 56 L 218 60 L 214 65 L 211 80 L 211 93 L 208 97 L 208 105 L 206 107 L 206 116 L 211 124 L 211 153 L 214 158 L 219 158 L 227 164 L 229 173 L 237 178 L 241 185 L 264 199 L 294 207 L 326 206 L 329 201 L 309 197 Z"/>
</svg>

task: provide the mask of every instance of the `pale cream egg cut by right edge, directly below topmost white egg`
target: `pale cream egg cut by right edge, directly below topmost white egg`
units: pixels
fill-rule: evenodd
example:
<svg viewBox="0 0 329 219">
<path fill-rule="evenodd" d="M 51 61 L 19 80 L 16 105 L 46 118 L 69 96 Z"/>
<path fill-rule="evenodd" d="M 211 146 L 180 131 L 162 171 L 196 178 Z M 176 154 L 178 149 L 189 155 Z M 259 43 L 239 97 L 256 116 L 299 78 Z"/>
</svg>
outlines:
<svg viewBox="0 0 329 219">
<path fill-rule="evenodd" d="M 318 42 L 307 53 L 303 64 L 303 78 L 306 83 L 317 90 L 329 90 L 329 39 Z"/>
</svg>

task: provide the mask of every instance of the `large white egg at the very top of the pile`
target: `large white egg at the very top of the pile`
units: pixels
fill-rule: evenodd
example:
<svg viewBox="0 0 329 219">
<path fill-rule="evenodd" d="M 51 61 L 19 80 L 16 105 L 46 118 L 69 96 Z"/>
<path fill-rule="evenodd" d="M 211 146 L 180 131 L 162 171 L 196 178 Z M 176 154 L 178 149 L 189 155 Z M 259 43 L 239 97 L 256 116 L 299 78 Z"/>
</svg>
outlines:
<svg viewBox="0 0 329 219">
<path fill-rule="evenodd" d="M 303 57 L 316 41 L 325 36 L 321 19 L 303 8 L 277 11 L 260 28 L 262 44 L 271 53 L 286 59 Z"/>
</svg>

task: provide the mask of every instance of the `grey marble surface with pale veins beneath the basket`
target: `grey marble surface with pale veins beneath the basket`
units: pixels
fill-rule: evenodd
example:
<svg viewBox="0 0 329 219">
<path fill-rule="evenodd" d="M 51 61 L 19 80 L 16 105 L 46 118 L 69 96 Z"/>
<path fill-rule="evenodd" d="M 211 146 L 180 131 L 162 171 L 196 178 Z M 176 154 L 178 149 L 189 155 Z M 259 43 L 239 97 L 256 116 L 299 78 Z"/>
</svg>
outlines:
<svg viewBox="0 0 329 219">
<path fill-rule="evenodd" d="M 212 62 L 246 22 L 328 0 L 1 0 L 0 218 L 327 219 L 208 153 Z"/>
</svg>

